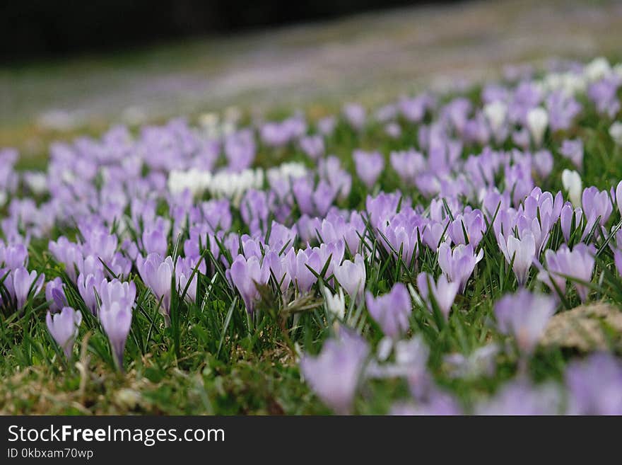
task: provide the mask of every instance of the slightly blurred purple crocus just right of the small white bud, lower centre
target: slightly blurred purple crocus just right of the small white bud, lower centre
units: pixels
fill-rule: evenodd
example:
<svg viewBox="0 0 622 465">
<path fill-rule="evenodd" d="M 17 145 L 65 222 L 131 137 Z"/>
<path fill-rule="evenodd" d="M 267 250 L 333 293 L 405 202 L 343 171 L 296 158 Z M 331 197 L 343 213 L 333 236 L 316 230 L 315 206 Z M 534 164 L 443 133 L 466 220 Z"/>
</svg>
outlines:
<svg viewBox="0 0 622 465">
<path fill-rule="evenodd" d="M 366 292 L 365 302 L 370 315 L 385 335 L 398 338 L 406 332 L 412 305 L 410 294 L 401 282 L 397 282 L 391 292 L 382 296 L 374 298 L 371 292 Z"/>
</svg>

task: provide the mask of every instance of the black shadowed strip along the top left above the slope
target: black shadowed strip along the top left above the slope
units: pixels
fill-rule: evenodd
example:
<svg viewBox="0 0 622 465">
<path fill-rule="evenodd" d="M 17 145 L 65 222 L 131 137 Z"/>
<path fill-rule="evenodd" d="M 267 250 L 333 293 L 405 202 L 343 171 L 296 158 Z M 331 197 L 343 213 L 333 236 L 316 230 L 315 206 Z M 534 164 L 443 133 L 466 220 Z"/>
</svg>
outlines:
<svg viewBox="0 0 622 465">
<path fill-rule="evenodd" d="M 335 18 L 433 0 L 2 0 L 0 61 L 119 50 L 169 39 Z"/>
</svg>

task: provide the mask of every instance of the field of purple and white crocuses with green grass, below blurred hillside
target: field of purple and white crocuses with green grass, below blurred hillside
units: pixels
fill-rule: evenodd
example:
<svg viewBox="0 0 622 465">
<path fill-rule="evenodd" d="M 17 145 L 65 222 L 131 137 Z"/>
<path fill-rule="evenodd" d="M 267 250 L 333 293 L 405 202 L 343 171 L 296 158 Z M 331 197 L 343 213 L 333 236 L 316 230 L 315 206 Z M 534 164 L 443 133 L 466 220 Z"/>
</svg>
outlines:
<svg viewBox="0 0 622 465">
<path fill-rule="evenodd" d="M 622 415 L 622 65 L 0 151 L 0 411 Z"/>
</svg>

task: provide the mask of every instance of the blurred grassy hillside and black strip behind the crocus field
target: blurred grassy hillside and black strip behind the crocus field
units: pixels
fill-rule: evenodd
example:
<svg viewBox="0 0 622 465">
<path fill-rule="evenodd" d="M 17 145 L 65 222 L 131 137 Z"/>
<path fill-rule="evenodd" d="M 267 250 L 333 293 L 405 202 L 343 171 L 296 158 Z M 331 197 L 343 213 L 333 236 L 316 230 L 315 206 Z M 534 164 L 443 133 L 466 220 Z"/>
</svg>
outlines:
<svg viewBox="0 0 622 465">
<path fill-rule="evenodd" d="M 622 1 L 6 0 L 0 37 L 0 147 L 28 158 L 117 122 L 322 115 L 509 64 L 618 60 Z"/>
</svg>

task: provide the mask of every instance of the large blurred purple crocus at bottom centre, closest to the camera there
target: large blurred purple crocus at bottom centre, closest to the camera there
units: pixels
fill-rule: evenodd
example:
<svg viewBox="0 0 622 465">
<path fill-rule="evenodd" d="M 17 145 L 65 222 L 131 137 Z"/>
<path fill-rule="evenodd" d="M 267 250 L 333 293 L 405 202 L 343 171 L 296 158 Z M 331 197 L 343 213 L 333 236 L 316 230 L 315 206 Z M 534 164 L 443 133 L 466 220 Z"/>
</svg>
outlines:
<svg viewBox="0 0 622 465">
<path fill-rule="evenodd" d="M 317 357 L 304 355 L 300 370 L 315 394 L 336 413 L 349 413 L 369 347 L 359 335 L 341 331 L 324 343 Z"/>
</svg>

